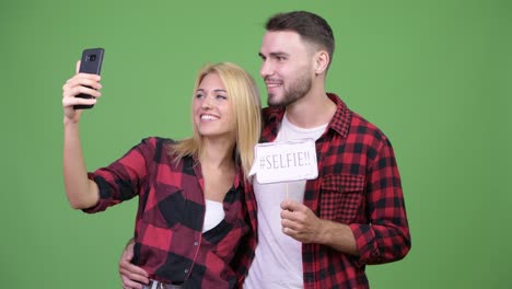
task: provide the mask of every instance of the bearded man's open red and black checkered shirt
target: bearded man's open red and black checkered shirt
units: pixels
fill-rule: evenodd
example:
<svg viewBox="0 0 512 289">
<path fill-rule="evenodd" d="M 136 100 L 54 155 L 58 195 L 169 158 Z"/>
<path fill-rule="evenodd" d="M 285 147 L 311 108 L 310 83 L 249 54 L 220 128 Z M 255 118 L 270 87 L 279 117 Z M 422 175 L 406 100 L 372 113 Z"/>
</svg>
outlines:
<svg viewBox="0 0 512 289">
<path fill-rule="evenodd" d="M 303 244 L 304 288 L 369 288 L 366 264 L 398 261 L 410 248 L 400 177 L 384 134 L 348 109 L 337 95 L 328 96 L 337 111 L 316 141 L 318 177 L 306 182 L 304 204 L 322 219 L 349 224 L 360 256 Z M 261 142 L 276 139 L 283 115 L 283 108 L 264 109 Z M 254 193 L 246 196 L 256 228 Z M 246 252 L 245 264 L 249 263 L 254 247 L 241 251 Z"/>
</svg>

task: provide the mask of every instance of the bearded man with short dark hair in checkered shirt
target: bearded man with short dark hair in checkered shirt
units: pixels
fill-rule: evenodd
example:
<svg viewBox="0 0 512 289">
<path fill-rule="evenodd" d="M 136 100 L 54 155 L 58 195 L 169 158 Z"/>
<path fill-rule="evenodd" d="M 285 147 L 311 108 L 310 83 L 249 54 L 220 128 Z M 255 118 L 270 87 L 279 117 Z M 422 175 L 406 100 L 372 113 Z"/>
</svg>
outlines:
<svg viewBox="0 0 512 289">
<path fill-rule="evenodd" d="M 324 19 L 282 13 L 266 30 L 259 56 L 269 107 L 261 141 L 315 139 L 318 177 L 254 182 L 247 207 L 258 243 L 240 248 L 245 264 L 254 257 L 244 288 L 369 288 L 366 264 L 402 259 L 410 248 L 393 148 L 377 127 L 325 92 L 335 44 Z M 124 280 L 132 276 L 126 263 L 121 257 Z"/>
</svg>

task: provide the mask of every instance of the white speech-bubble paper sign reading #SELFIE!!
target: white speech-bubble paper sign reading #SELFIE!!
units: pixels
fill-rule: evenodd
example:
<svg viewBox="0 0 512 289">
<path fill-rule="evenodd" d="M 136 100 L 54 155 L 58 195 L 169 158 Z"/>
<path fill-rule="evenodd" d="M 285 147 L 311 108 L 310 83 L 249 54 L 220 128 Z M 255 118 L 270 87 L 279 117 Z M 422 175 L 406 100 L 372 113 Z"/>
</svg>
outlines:
<svg viewBox="0 0 512 289">
<path fill-rule="evenodd" d="M 313 139 L 258 143 L 255 154 L 249 175 L 256 174 L 260 184 L 313 180 L 318 176 Z"/>
</svg>

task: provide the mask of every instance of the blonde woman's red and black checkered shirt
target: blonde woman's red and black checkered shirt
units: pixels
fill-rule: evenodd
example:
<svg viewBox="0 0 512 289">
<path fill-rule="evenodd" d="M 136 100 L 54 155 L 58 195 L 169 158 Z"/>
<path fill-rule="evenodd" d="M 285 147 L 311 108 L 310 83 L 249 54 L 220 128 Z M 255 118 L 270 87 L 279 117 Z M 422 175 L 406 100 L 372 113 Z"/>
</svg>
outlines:
<svg viewBox="0 0 512 289">
<path fill-rule="evenodd" d="M 238 266 L 235 252 L 242 241 L 254 243 L 242 206 L 241 174 L 223 200 L 224 219 L 202 233 L 201 166 L 191 157 L 175 163 L 167 153 L 171 143 L 168 139 L 143 139 L 119 160 L 90 173 L 101 199 L 85 211 L 102 211 L 139 196 L 133 264 L 152 279 L 183 284 L 184 288 L 235 288 L 246 274 L 238 271 L 246 266 Z"/>
</svg>

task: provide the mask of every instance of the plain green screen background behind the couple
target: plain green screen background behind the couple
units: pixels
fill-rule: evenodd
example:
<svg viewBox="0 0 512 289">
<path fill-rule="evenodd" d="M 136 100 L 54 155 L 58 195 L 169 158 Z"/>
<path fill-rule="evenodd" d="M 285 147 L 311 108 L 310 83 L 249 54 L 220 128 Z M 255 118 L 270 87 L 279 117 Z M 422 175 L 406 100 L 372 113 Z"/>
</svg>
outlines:
<svg viewBox="0 0 512 289">
<path fill-rule="evenodd" d="M 263 24 L 302 9 L 335 31 L 328 91 L 384 130 L 399 164 L 412 248 L 369 266 L 372 288 L 512 288 L 505 0 L 2 1 L 1 287 L 120 288 L 137 201 L 90 216 L 62 185 L 61 86 L 83 48 L 106 49 L 104 96 L 82 117 L 94 170 L 143 137 L 188 136 L 205 62 L 243 66 L 266 103 Z"/>
</svg>

